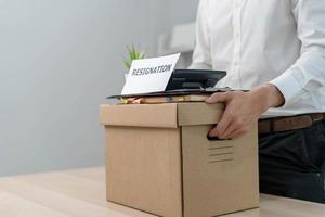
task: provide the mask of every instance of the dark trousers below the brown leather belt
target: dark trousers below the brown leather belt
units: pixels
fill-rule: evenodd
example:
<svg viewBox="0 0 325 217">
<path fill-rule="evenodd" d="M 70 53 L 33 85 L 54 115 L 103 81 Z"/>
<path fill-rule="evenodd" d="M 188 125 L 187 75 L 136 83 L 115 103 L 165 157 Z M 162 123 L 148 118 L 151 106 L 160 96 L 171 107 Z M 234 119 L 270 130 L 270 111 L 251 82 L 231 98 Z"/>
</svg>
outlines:
<svg viewBox="0 0 325 217">
<path fill-rule="evenodd" d="M 259 135 L 260 192 L 325 203 L 325 120 Z"/>
</svg>

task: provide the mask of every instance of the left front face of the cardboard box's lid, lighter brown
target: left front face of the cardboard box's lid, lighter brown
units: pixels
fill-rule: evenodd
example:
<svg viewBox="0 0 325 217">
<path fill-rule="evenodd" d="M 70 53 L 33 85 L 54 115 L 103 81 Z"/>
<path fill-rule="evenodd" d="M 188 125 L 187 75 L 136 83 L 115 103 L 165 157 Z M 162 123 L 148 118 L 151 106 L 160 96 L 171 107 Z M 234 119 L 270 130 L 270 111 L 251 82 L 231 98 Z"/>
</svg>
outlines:
<svg viewBox="0 0 325 217">
<path fill-rule="evenodd" d="M 176 103 L 101 105 L 101 125 L 178 128 Z M 145 118 L 144 118 L 145 117 Z"/>
</svg>

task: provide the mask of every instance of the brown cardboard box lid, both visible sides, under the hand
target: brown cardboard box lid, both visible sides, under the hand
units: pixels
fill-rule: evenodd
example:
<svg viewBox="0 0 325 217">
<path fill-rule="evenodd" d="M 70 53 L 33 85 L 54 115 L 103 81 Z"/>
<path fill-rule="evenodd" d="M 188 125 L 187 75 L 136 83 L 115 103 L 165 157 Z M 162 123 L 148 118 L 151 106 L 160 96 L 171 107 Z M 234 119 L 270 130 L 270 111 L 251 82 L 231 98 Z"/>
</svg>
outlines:
<svg viewBox="0 0 325 217">
<path fill-rule="evenodd" d="M 101 105 L 101 124 L 108 126 L 178 128 L 216 124 L 223 104 L 203 102 Z"/>
</svg>

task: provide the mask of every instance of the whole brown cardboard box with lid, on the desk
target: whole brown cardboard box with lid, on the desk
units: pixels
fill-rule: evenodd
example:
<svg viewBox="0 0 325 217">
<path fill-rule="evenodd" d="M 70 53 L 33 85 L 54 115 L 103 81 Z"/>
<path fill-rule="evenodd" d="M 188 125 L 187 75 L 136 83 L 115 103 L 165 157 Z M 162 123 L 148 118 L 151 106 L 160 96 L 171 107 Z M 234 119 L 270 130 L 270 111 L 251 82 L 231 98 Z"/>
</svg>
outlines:
<svg viewBox="0 0 325 217">
<path fill-rule="evenodd" d="M 210 141 L 222 104 L 102 105 L 107 200 L 166 217 L 258 207 L 258 132 Z"/>
</svg>

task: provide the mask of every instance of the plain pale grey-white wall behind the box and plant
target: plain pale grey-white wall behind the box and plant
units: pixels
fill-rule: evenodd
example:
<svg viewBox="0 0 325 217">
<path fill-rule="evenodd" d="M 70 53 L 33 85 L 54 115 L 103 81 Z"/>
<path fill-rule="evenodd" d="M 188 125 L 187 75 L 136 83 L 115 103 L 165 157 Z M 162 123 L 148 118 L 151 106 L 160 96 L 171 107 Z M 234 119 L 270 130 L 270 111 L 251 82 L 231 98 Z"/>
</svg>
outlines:
<svg viewBox="0 0 325 217">
<path fill-rule="evenodd" d="M 198 0 L 0 0 L 0 176 L 103 165 L 99 105 L 126 44 L 195 20 Z"/>
</svg>

